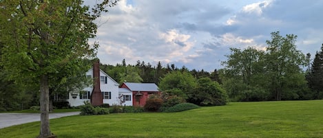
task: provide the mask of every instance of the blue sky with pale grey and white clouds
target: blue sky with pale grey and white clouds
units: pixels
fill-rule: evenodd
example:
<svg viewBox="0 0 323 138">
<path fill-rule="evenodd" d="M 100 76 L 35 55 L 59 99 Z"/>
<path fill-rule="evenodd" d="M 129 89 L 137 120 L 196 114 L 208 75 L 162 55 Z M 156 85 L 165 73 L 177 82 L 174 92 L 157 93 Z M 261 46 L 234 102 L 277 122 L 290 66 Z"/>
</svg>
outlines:
<svg viewBox="0 0 323 138">
<path fill-rule="evenodd" d="M 90 0 L 88 0 L 90 1 Z M 121 0 L 98 23 L 101 63 L 149 62 L 213 71 L 230 47 L 264 50 L 271 32 L 297 35 L 312 58 L 323 43 L 320 0 Z"/>
</svg>

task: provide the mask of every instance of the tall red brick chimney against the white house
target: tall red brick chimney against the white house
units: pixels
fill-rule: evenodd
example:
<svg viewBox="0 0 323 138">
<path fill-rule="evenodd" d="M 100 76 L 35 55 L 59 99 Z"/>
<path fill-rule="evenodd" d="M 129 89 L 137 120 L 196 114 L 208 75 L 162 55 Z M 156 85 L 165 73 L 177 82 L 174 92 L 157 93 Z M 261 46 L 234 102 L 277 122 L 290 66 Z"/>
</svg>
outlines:
<svg viewBox="0 0 323 138">
<path fill-rule="evenodd" d="M 92 106 L 101 106 L 103 104 L 103 95 L 100 89 L 100 60 L 95 60 L 93 64 L 93 90 L 91 94 Z"/>
</svg>

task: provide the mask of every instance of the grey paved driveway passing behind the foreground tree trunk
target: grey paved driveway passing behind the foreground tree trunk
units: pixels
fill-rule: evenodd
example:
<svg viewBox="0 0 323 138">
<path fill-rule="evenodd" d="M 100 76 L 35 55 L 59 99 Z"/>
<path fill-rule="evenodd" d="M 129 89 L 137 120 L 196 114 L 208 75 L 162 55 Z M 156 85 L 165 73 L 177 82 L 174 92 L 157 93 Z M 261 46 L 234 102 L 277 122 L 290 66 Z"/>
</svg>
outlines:
<svg viewBox="0 0 323 138">
<path fill-rule="evenodd" d="M 50 119 L 79 115 L 80 112 L 50 113 Z M 41 121 L 40 113 L 0 113 L 0 129 L 18 124 Z"/>
</svg>

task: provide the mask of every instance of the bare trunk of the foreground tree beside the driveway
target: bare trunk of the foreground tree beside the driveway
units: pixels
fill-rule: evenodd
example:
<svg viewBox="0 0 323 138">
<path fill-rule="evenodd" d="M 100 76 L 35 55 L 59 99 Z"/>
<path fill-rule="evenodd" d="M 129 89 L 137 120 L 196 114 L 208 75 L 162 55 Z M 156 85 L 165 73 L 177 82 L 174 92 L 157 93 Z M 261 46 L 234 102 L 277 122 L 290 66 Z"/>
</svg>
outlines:
<svg viewBox="0 0 323 138">
<path fill-rule="evenodd" d="M 48 83 L 48 75 L 41 76 L 40 82 L 40 104 L 41 104 L 41 132 L 39 133 L 39 138 L 43 137 L 54 137 L 50 133 L 50 119 L 49 119 L 49 109 L 50 109 L 50 89 Z"/>
</svg>

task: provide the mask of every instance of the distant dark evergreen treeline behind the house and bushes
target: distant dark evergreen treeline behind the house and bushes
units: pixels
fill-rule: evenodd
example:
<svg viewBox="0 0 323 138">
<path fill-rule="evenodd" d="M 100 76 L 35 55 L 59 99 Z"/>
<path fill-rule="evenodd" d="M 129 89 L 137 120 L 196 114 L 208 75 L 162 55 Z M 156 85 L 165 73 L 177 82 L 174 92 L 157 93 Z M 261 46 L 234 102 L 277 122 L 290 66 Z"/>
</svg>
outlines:
<svg viewBox="0 0 323 138">
<path fill-rule="evenodd" d="M 204 71 L 192 69 L 189 70 L 187 67 L 183 66 L 181 68 L 176 67 L 174 64 L 167 64 L 165 66 L 158 62 L 157 65 L 151 65 L 149 62 L 137 60 L 136 65 L 127 65 L 125 59 L 122 63 L 116 65 L 105 65 L 101 64 L 101 69 L 105 71 L 110 77 L 112 77 L 116 82 L 120 84 L 122 82 L 154 82 L 159 84 L 160 78 L 165 77 L 167 73 L 173 71 L 189 72 L 195 78 L 210 78 L 213 81 L 219 82 L 219 74 L 217 69 L 214 71 Z"/>
</svg>

